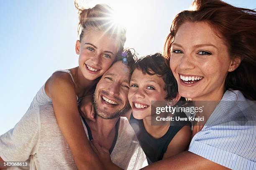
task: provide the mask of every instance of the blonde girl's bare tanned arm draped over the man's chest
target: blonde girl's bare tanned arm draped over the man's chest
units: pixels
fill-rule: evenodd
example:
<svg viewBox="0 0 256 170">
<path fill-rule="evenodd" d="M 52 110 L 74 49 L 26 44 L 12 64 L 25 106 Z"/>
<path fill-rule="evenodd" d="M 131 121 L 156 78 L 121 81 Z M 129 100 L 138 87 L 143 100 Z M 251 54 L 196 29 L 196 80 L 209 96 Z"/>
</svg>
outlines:
<svg viewBox="0 0 256 170">
<path fill-rule="evenodd" d="M 90 147 L 80 114 L 74 83 L 69 74 L 56 72 L 45 85 L 46 94 L 52 99 L 57 123 L 64 135 L 78 169 L 104 169 Z"/>
</svg>

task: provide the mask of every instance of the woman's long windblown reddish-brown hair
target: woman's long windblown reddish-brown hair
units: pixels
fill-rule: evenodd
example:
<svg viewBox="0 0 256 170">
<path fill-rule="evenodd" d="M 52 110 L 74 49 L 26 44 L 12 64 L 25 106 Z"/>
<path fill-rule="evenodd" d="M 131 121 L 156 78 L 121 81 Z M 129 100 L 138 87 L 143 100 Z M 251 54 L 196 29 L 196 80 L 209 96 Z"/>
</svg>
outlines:
<svg viewBox="0 0 256 170">
<path fill-rule="evenodd" d="M 238 68 L 228 73 L 225 90 L 240 90 L 248 99 L 256 100 L 256 11 L 220 0 L 195 0 L 192 5 L 194 11 L 182 11 L 174 18 L 164 45 L 165 56 L 170 59 L 170 49 L 180 25 L 207 22 L 224 40 L 230 58 L 241 58 Z"/>
</svg>

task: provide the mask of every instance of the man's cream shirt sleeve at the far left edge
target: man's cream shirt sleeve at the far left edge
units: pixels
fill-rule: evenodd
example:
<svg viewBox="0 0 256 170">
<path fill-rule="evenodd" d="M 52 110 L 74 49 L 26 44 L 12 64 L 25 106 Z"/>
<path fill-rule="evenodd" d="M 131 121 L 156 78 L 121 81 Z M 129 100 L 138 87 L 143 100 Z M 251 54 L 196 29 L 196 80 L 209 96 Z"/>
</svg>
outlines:
<svg viewBox="0 0 256 170">
<path fill-rule="evenodd" d="M 39 108 L 28 110 L 13 129 L 0 136 L 0 157 L 4 161 L 26 161 L 36 152 Z"/>
</svg>

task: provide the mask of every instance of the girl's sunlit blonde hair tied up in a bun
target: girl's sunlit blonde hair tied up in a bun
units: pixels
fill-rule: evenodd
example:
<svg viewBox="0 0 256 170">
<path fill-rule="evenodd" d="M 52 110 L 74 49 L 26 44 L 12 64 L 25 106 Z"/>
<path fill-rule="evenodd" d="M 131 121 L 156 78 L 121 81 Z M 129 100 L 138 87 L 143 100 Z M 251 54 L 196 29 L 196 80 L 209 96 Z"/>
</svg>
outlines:
<svg viewBox="0 0 256 170">
<path fill-rule="evenodd" d="M 81 30 L 79 36 L 80 41 L 86 31 L 102 31 L 115 38 L 120 45 L 119 51 L 123 51 L 123 46 L 126 41 L 126 30 L 121 26 L 118 26 L 118 29 L 115 25 L 113 26 L 113 20 L 111 18 L 111 15 L 113 15 L 112 8 L 105 4 L 97 4 L 93 8 L 84 9 L 79 7 L 76 0 L 74 3 L 79 14 L 77 33 L 79 34 Z"/>
</svg>

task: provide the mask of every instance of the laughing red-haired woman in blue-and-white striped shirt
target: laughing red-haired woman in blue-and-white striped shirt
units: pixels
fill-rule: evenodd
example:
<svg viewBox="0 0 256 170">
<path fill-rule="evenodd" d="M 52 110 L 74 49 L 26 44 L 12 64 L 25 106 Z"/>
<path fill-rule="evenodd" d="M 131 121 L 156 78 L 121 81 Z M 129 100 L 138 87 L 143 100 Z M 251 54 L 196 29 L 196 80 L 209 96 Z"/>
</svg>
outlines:
<svg viewBox="0 0 256 170">
<path fill-rule="evenodd" d="M 193 126 L 188 151 L 145 169 L 256 169 L 256 12 L 220 0 L 194 7 L 176 16 L 164 49 L 181 96 L 210 103 L 208 120 Z"/>
</svg>

